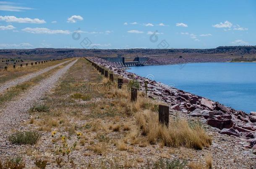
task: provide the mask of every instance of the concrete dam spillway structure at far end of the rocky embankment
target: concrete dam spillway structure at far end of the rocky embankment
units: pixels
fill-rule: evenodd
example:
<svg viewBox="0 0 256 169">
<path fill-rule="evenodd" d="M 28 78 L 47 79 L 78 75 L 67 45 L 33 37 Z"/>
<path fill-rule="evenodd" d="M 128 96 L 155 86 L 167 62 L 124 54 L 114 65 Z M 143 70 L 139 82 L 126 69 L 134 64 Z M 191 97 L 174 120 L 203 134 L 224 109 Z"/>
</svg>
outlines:
<svg viewBox="0 0 256 169">
<path fill-rule="evenodd" d="M 146 57 L 136 57 L 133 61 L 126 61 L 124 57 L 99 57 L 109 62 L 119 64 L 120 66 L 129 67 L 129 66 L 145 66 L 147 65 L 148 58 Z"/>
</svg>

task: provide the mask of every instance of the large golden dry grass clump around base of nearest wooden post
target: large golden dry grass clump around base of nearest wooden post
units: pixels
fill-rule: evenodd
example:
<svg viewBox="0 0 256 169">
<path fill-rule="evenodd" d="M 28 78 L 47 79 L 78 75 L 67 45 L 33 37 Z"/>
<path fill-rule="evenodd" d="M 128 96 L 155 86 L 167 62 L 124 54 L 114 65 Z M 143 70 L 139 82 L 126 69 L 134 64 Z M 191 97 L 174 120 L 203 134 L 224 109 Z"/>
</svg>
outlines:
<svg viewBox="0 0 256 169">
<path fill-rule="evenodd" d="M 192 125 L 184 119 L 171 119 L 169 128 L 158 123 L 158 116 L 145 110 L 135 115 L 141 134 L 146 136 L 150 144 L 161 140 L 165 146 L 202 149 L 212 144 L 212 138 L 197 123 Z"/>
</svg>

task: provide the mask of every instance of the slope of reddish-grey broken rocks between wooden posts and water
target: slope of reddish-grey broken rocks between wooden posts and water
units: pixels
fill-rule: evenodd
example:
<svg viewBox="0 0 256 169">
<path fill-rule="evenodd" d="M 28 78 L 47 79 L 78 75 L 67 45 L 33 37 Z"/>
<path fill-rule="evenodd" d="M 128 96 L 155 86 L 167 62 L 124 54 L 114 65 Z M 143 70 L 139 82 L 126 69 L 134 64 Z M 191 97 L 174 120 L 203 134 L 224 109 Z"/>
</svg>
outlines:
<svg viewBox="0 0 256 169">
<path fill-rule="evenodd" d="M 168 103 L 171 111 L 180 111 L 185 116 L 201 117 L 204 123 L 213 126 L 219 134 L 225 134 L 237 137 L 232 140 L 232 145 L 247 149 L 246 156 L 255 160 L 256 154 L 256 112 L 246 114 L 243 111 L 236 111 L 233 108 L 211 101 L 201 96 L 196 96 L 176 88 L 166 86 L 156 81 L 137 76 L 134 73 L 128 73 L 122 68 L 117 68 L 115 64 L 102 60 L 100 58 L 89 58 L 89 60 L 103 66 L 118 76 L 123 78 L 137 80 L 141 85 L 141 90 L 145 90 L 144 82 L 148 82 L 149 97 Z M 227 136 L 220 136 L 222 139 L 230 139 Z M 225 145 L 223 145 L 225 146 Z M 226 147 L 226 146 L 225 146 Z M 226 147 L 229 149 L 229 146 Z M 232 152 L 233 149 L 230 149 Z M 238 152 L 243 154 L 242 151 Z M 253 154 L 254 153 L 254 154 Z M 244 156 L 244 155 L 243 155 Z"/>
</svg>

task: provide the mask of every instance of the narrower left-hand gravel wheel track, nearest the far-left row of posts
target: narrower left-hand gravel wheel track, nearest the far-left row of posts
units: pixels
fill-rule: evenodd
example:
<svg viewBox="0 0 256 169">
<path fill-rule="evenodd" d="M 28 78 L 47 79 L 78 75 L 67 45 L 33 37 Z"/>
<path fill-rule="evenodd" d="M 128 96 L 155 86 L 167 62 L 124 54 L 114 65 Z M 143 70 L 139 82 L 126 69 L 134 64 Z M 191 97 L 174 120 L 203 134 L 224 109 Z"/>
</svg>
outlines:
<svg viewBox="0 0 256 169">
<path fill-rule="evenodd" d="M 7 81 L 7 82 L 1 84 L 1 86 L 0 86 L 0 93 L 2 93 L 3 91 L 5 91 L 7 88 L 10 88 L 10 87 L 12 87 L 12 86 L 16 86 L 16 85 L 21 84 L 21 83 L 23 83 L 23 82 L 25 82 L 25 81 L 29 81 L 31 78 L 34 78 L 34 77 L 36 77 L 36 76 L 38 76 L 38 75 L 40 75 L 40 74 L 42 74 L 42 73 L 45 73 L 45 72 L 47 72 L 47 71 L 50 71 L 50 70 L 52 70 L 53 68 L 56 68 L 56 67 L 58 67 L 58 66 L 60 66 L 60 65 L 63 65 L 63 64 L 65 64 L 65 63 L 67 63 L 67 62 L 69 62 L 69 61 L 65 61 L 65 62 L 59 63 L 59 64 L 57 64 L 57 65 L 55 65 L 55 66 L 50 66 L 50 67 L 44 68 L 44 69 L 42 69 L 41 71 L 37 71 L 37 72 L 35 72 L 35 73 L 30 73 L 30 74 L 28 74 L 28 75 L 25 75 L 25 76 L 16 78 L 16 79 L 14 79 L 14 80 Z"/>
</svg>

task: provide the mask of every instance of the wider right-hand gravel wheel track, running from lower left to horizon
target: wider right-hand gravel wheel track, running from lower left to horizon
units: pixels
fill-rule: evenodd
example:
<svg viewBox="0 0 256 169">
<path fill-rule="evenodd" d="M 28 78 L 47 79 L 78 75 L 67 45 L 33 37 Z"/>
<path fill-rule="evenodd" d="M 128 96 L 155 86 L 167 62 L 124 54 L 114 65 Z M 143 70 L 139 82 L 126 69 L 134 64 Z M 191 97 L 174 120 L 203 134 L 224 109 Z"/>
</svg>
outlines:
<svg viewBox="0 0 256 169">
<path fill-rule="evenodd" d="M 31 106 L 39 101 L 44 93 L 50 91 L 55 83 L 63 76 L 68 69 L 76 63 L 78 59 L 72 61 L 64 68 L 55 72 L 51 77 L 40 81 L 40 83 L 31 88 L 26 93 L 22 93 L 16 101 L 8 102 L 3 108 L 0 109 L 0 157 L 10 155 L 8 149 L 13 149 L 15 145 L 7 141 L 10 131 L 18 129 L 19 124 L 26 119 L 29 119 L 29 114 L 26 112 Z"/>
</svg>

